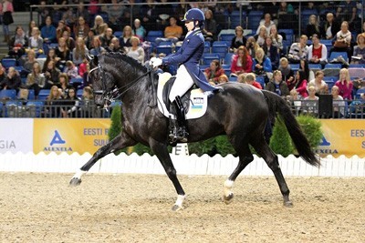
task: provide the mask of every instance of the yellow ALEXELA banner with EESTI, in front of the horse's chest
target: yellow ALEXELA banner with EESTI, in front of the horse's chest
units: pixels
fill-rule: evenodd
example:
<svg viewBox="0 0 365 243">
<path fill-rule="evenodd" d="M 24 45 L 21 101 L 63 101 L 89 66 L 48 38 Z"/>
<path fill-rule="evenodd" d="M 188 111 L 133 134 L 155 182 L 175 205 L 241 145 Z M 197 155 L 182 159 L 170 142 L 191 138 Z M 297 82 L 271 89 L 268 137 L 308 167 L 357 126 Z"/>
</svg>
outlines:
<svg viewBox="0 0 365 243">
<path fill-rule="evenodd" d="M 110 119 L 35 119 L 33 149 L 39 152 L 93 154 L 106 145 Z"/>
</svg>

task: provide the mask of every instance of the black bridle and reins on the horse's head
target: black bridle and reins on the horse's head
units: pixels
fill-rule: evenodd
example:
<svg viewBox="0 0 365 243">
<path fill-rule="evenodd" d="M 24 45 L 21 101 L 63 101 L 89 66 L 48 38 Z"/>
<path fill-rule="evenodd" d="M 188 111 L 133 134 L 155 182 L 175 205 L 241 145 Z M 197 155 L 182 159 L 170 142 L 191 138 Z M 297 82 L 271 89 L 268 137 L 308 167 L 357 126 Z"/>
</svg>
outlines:
<svg viewBox="0 0 365 243">
<path fill-rule="evenodd" d="M 104 102 L 104 108 L 107 109 L 108 106 L 110 105 L 110 103 L 114 102 L 120 96 L 123 96 L 125 93 L 127 93 L 127 91 L 130 90 L 130 88 L 132 88 L 133 86 L 138 84 L 138 81 L 140 81 L 142 77 L 151 75 L 151 72 L 152 72 L 153 69 L 148 67 L 147 72 L 143 73 L 141 76 L 138 76 L 137 78 L 132 80 L 130 83 L 126 84 L 125 86 L 121 86 L 120 88 L 118 88 L 117 86 L 114 86 L 114 88 L 112 90 L 109 90 L 109 91 L 107 90 L 107 84 L 105 82 L 105 80 L 106 80 L 105 72 L 104 72 L 104 70 L 103 70 L 103 68 L 102 68 L 102 66 L 100 65 L 99 62 L 98 62 L 98 66 L 95 66 L 94 68 L 92 68 L 89 71 L 89 76 L 91 75 L 92 72 L 94 72 L 96 70 L 99 70 L 99 72 L 101 72 L 101 76 L 99 76 L 99 80 L 101 82 L 102 89 L 101 90 L 94 90 L 93 94 L 101 96 L 101 98 L 105 101 Z"/>
</svg>

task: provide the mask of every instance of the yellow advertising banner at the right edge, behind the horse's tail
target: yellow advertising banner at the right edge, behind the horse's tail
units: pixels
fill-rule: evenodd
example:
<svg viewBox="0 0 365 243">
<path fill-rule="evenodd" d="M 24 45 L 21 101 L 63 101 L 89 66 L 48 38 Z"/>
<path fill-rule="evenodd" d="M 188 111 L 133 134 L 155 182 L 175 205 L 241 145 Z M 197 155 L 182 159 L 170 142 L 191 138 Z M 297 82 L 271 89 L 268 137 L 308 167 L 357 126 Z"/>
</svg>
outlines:
<svg viewBox="0 0 365 243">
<path fill-rule="evenodd" d="M 357 155 L 365 157 L 365 120 L 321 119 L 323 137 L 317 153 L 321 157 Z"/>
</svg>

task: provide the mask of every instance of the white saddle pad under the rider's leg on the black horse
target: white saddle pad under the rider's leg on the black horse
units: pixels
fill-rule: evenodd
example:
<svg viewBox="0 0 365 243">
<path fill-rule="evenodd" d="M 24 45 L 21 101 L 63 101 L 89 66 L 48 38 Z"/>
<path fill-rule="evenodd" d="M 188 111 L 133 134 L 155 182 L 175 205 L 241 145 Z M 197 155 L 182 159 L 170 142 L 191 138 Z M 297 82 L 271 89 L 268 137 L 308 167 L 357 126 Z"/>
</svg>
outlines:
<svg viewBox="0 0 365 243">
<path fill-rule="evenodd" d="M 172 118 L 174 118 L 174 116 L 166 108 L 166 104 L 163 102 L 162 99 L 163 86 L 165 86 L 166 82 L 169 81 L 171 77 L 172 75 L 169 73 L 163 73 L 159 75 L 159 84 L 157 86 L 157 104 L 164 116 L 171 116 Z M 207 107 L 208 95 L 205 94 L 200 88 L 193 89 L 190 96 L 189 111 L 185 116 L 186 119 L 195 119 L 203 116 L 206 112 Z"/>
</svg>

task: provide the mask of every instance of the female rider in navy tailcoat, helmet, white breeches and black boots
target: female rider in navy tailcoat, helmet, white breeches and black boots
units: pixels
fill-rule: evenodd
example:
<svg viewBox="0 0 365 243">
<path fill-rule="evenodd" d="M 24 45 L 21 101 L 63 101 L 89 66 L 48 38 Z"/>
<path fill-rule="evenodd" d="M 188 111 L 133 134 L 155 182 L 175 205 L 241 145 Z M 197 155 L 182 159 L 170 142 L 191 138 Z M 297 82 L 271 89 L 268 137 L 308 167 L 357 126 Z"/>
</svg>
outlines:
<svg viewBox="0 0 365 243">
<path fill-rule="evenodd" d="M 173 124 L 169 137 L 174 141 L 186 142 L 189 135 L 186 129 L 185 111 L 181 96 L 196 84 L 203 91 L 216 91 L 209 85 L 203 71 L 199 68 L 199 61 L 203 56 L 204 37 L 202 34 L 204 14 L 198 8 L 186 12 L 183 21 L 188 33 L 183 40 L 183 46 L 174 54 L 161 58 L 152 57 L 150 65 L 153 68 L 161 65 L 179 65 L 176 79 L 173 83 L 169 100 L 176 111 L 177 125 Z"/>
</svg>

